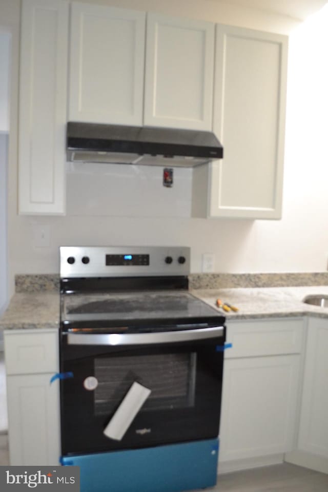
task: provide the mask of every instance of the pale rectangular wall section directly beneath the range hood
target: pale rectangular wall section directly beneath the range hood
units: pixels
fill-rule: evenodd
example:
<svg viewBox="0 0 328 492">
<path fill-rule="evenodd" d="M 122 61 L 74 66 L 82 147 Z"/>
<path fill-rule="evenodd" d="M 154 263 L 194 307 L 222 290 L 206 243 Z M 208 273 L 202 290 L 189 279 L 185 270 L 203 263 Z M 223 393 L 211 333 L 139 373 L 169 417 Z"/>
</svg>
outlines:
<svg viewBox="0 0 328 492">
<path fill-rule="evenodd" d="M 163 169 L 68 162 L 67 214 L 190 217 L 192 169 L 174 168 L 172 188 L 162 184 Z"/>
</svg>

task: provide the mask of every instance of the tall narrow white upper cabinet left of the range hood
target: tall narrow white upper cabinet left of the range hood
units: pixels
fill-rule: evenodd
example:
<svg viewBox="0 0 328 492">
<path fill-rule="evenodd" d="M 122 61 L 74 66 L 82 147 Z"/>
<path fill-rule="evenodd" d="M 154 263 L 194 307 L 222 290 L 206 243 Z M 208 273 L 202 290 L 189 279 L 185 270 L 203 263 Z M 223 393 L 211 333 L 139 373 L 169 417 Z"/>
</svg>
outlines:
<svg viewBox="0 0 328 492">
<path fill-rule="evenodd" d="M 65 213 L 68 3 L 23 0 L 20 31 L 20 214 Z"/>
</svg>

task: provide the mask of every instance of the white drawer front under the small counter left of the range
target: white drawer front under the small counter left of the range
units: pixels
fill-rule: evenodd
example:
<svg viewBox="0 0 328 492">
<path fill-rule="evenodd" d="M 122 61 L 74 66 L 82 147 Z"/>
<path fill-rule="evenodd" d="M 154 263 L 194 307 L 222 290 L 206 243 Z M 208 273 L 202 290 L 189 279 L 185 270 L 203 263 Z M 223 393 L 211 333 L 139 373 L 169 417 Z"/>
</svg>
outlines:
<svg viewBox="0 0 328 492">
<path fill-rule="evenodd" d="M 7 374 L 58 371 L 58 333 L 5 332 Z"/>
</svg>

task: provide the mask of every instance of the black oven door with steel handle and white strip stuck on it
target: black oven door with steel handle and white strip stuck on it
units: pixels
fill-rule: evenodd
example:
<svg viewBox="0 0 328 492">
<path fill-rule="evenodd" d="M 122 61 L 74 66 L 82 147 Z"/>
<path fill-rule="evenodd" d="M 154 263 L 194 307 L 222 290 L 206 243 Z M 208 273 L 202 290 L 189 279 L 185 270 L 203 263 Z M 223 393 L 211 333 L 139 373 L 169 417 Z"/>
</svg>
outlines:
<svg viewBox="0 0 328 492">
<path fill-rule="evenodd" d="M 217 437 L 224 339 L 223 326 L 138 334 L 63 333 L 61 371 L 71 377 L 60 381 L 62 454 Z M 137 395 L 140 409 L 130 398 L 134 383 L 144 392 L 141 401 Z M 131 423 L 112 438 L 106 429 L 115 413 L 118 420 L 131 414 Z"/>
</svg>

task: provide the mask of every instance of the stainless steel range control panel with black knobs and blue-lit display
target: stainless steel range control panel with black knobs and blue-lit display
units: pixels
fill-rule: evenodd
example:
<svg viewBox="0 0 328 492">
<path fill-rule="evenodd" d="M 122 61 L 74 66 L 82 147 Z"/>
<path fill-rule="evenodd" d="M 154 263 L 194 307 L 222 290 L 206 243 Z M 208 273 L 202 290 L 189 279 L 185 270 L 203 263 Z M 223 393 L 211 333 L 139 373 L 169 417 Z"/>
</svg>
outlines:
<svg viewBox="0 0 328 492">
<path fill-rule="evenodd" d="M 190 248 L 61 246 L 60 278 L 189 275 Z"/>
</svg>

